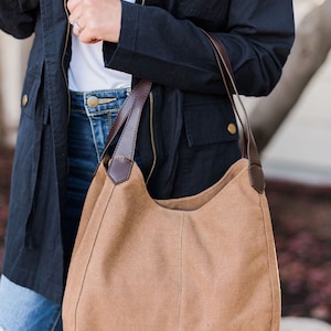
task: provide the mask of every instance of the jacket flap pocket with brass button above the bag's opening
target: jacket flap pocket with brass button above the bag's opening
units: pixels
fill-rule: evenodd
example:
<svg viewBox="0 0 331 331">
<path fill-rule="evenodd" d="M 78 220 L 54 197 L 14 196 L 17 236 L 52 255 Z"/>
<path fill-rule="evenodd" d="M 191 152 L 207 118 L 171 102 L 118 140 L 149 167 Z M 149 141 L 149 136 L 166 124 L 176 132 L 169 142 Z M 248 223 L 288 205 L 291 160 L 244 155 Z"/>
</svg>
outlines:
<svg viewBox="0 0 331 331">
<path fill-rule="evenodd" d="M 183 115 L 190 147 L 238 140 L 236 118 L 226 98 L 184 97 Z"/>
</svg>

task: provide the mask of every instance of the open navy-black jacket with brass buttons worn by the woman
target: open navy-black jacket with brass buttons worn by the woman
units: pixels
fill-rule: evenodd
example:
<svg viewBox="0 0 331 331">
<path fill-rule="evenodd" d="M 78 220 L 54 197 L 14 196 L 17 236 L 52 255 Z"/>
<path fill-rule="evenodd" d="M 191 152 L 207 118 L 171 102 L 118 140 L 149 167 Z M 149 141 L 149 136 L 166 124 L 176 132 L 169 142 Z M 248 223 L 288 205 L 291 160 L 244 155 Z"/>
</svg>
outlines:
<svg viewBox="0 0 331 331">
<path fill-rule="evenodd" d="M 293 41 L 291 0 L 122 2 L 118 44 L 107 67 L 151 79 L 137 156 L 156 197 L 194 194 L 238 157 L 235 122 L 211 45 L 225 45 L 241 94 L 267 95 Z M 22 96 L 3 273 L 60 302 L 65 282 L 61 215 L 67 175 L 70 24 L 65 0 L 1 0 L 0 28 L 34 33 Z M 266 109 L 266 111 L 268 111 Z"/>
</svg>

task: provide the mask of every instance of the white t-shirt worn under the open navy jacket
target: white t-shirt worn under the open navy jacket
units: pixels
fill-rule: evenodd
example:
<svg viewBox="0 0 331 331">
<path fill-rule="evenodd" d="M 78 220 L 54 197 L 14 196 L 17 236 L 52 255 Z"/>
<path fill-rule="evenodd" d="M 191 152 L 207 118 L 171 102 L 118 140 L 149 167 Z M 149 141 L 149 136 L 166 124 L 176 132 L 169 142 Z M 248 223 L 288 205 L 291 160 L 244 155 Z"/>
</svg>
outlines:
<svg viewBox="0 0 331 331">
<path fill-rule="evenodd" d="M 135 2 L 135 0 L 126 0 Z M 103 42 L 81 43 L 72 33 L 72 61 L 68 68 L 68 87 L 72 90 L 128 88 L 131 75 L 106 68 L 104 65 Z"/>
</svg>

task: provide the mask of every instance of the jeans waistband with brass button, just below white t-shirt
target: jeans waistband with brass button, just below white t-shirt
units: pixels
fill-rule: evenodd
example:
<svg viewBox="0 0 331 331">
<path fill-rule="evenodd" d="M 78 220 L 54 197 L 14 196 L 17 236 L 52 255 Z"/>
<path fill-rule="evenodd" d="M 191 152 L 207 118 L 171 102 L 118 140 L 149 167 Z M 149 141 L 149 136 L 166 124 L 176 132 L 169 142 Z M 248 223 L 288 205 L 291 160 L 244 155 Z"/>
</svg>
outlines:
<svg viewBox="0 0 331 331">
<path fill-rule="evenodd" d="M 85 110 L 87 115 L 96 115 L 109 109 L 120 108 L 130 88 L 99 89 L 90 92 L 71 90 L 72 110 Z"/>
</svg>

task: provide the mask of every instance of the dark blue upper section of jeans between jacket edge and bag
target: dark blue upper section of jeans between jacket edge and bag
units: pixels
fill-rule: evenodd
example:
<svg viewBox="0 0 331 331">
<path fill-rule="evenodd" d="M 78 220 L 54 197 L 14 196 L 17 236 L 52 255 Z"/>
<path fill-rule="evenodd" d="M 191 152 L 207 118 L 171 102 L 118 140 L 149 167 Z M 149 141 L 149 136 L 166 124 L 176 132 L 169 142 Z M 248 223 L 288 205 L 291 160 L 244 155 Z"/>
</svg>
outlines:
<svg viewBox="0 0 331 331">
<path fill-rule="evenodd" d="M 70 172 L 65 216 L 62 222 L 65 265 L 68 265 L 84 200 L 103 154 L 110 126 L 128 93 L 128 89 L 71 92 Z M 98 105 L 88 106 L 96 98 Z"/>
</svg>

